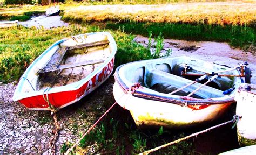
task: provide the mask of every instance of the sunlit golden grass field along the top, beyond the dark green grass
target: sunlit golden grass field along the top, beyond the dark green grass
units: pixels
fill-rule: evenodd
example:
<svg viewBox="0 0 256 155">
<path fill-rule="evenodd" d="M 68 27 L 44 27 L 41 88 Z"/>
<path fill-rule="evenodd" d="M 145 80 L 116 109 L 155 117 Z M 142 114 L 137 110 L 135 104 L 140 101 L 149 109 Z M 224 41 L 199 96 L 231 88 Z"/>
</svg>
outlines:
<svg viewBox="0 0 256 155">
<path fill-rule="evenodd" d="M 235 9 L 234 9 L 235 7 Z M 255 2 L 195 2 L 159 5 L 96 5 L 66 8 L 71 22 L 150 22 L 208 25 L 255 24 Z"/>
</svg>

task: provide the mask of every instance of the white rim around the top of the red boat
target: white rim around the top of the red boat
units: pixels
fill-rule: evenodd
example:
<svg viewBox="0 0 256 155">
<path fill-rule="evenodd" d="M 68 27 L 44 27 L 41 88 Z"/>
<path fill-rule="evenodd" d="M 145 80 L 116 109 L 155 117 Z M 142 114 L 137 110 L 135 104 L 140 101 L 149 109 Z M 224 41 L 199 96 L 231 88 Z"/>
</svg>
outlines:
<svg viewBox="0 0 256 155">
<path fill-rule="evenodd" d="M 116 54 L 117 51 L 117 45 L 116 45 L 116 41 L 114 41 L 114 38 L 111 36 L 111 34 L 109 32 L 91 32 L 91 33 L 84 33 L 84 34 L 78 34 L 72 37 L 79 37 L 79 36 L 83 36 L 83 35 L 93 35 L 93 34 L 103 34 L 107 36 L 107 39 L 110 41 L 109 44 L 113 45 L 113 49 L 111 54 L 109 55 L 109 58 L 105 59 L 105 61 L 103 62 L 102 65 L 100 65 L 95 71 L 93 71 L 92 73 L 90 73 L 89 75 L 87 75 L 85 78 L 81 79 L 80 81 L 71 83 L 71 84 L 67 84 L 65 86 L 60 86 L 60 87 L 55 87 L 55 88 L 51 88 L 48 92 L 48 94 L 53 94 L 53 93 L 60 93 L 60 92 L 65 92 L 65 91 L 75 91 L 77 89 L 79 89 L 80 87 L 82 87 L 87 81 L 89 81 L 90 79 L 93 78 L 93 76 L 95 76 L 98 72 L 102 71 L 102 69 L 107 66 L 112 59 L 114 59 L 114 55 Z M 40 61 L 43 56 L 48 53 L 50 50 L 52 50 L 52 48 L 58 46 L 60 43 L 63 43 L 64 41 L 72 38 L 72 37 L 68 37 L 68 38 L 64 38 L 61 40 L 56 41 L 55 43 L 53 43 L 49 48 L 47 48 L 41 55 L 39 55 L 30 65 L 29 67 L 26 69 L 26 71 L 23 73 L 23 75 L 21 77 L 21 80 L 19 80 L 17 88 L 15 90 L 14 96 L 13 96 L 13 100 L 14 101 L 19 101 L 22 100 L 24 98 L 28 98 L 28 97 L 35 97 L 35 96 L 39 96 L 42 95 L 44 93 L 44 90 L 36 90 L 36 91 L 31 91 L 28 93 L 24 93 L 21 92 L 22 87 L 24 86 L 24 81 L 25 78 L 28 77 L 28 74 L 31 72 L 31 69 L 34 65 L 37 64 L 38 61 Z M 109 77 L 109 76 L 108 76 Z M 82 95 L 84 97 L 84 95 Z M 82 97 L 81 97 L 82 98 Z M 79 100 L 79 98 L 78 98 Z M 70 103 L 71 104 L 71 103 Z"/>
</svg>

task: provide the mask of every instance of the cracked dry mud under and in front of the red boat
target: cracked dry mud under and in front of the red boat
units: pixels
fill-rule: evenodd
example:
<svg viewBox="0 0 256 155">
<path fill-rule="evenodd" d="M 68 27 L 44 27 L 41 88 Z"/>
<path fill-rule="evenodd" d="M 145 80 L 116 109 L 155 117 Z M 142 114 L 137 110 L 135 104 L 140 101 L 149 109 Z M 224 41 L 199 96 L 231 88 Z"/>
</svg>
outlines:
<svg viewBox="0 0 256 155">
<path fill-rule="evenodd" d="M 104 104 L 112 102 L 113 77 L 83 100 L 57 112 L 60 132 L 56 152 L 69 140 L 76 142 L 79 133 L 85 132 L 106 110 Z M 48 143 L 53 129 L 50 111 L 33 111 L 12 101 L 16 84 L 0 84 L 0 154 L 49 154 Z M 104 90 L 104 91 L 102 91 Z"/>
</svg>

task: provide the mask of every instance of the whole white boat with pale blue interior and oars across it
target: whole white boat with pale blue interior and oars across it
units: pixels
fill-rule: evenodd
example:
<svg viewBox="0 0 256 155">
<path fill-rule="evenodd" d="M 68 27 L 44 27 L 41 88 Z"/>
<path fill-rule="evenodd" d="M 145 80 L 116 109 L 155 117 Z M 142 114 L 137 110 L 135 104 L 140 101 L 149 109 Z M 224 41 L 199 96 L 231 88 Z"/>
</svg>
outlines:
<svg viewBox="0 0 256 155">
<path fill-rule="evenodd" d="M 190 57 L 131 62 L 116 69 L 113 94 L 121 107 L 130 110 L 138 128 L 186 128 L 218 118 L 234 103 L 242 83 L 235 68 Z M 217 72 L 223 75 L 211 75 Z M 203 86 L 206 81 L 210 82 Z M 142 87 L 130 94 L 136 83 Z"/>
</svg>

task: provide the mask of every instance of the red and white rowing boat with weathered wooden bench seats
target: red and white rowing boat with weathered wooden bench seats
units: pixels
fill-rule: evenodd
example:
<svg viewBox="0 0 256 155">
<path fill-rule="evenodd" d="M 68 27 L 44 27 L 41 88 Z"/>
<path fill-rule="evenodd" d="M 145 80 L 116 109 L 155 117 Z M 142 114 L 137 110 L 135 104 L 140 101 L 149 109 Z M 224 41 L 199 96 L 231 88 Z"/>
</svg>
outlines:
<svg viewBox="0 0 256 155">
<path fill-rule="evenodd" d="M 109 78 L 116 50 L 108 32 L 59 40 L 26 69 L 13 100 L 32 110 L 60 109 L 75 103 Z"/>
</svg>

